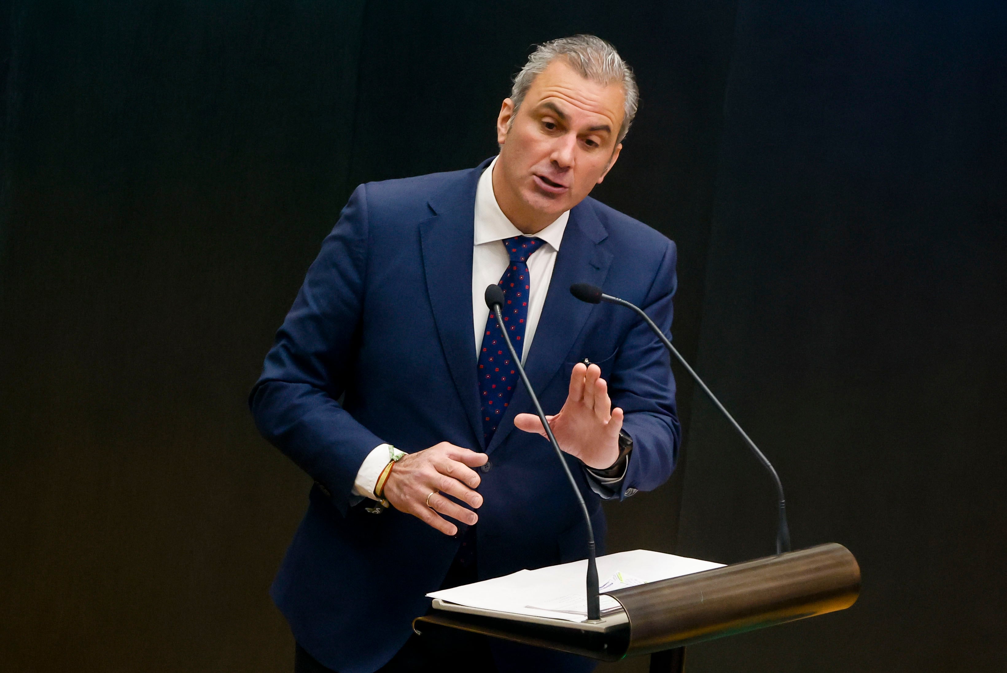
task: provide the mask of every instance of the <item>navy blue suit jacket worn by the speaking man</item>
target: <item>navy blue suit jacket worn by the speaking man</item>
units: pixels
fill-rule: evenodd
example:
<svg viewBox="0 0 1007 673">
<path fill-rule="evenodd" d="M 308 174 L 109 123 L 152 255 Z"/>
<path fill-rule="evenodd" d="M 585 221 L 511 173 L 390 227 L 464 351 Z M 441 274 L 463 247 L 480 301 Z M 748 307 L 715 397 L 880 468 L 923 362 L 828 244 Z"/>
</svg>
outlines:
<svg viewBox="0 0 1007 673">
<path fill-rule="evenodd" d="M 586 527 L 555 452 L 514 427 L 516 414 L 534 413 L 524 386 L 482 443 L 471 273 L 475 187 L 487 163 L 358 186 L 251 394 L 263 436 L 316 482 L 272 595 L 297 641 L 340 673 L 370 673 L 402 647 L 459 544 L 394 509 L 375 516 L 351 506 L 356 472 L 383 442 L 412 452 L 449 441 L 488 454 L 478 488 L 480 578 L 587 553 Z M 569 287 L 598 285 L 643 306 L 667 332 L 675 262 L 667 238 L 585 198 L 570 212 L 527 357 L 551 414 L 563 406 L 574 364 L 587 358 L 601 367 L 634 442 L 619 498 L 671 475 L 680 438 L 675 382 L 664 347 L 631 311 L 583 303 Z M 604 540 L 600 499 L 581 463 L 567 459 Z M 509 668 L 507 657 L 496 659 Z"/>
</svg>

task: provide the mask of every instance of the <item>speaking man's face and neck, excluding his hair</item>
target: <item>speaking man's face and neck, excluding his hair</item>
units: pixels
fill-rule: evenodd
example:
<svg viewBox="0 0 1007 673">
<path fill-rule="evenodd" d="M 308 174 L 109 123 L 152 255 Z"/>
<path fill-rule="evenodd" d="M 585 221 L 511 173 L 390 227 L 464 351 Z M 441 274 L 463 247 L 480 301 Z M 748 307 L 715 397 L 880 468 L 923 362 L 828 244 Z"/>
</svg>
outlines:
<svg viewBox="0 0 1007 673">
<path fill-rule="evenodd" d="M 604 179 L 621 150 L 623 101 L 621 85 L 587 80 L 563 57 L 535 79 L 516 114 L 503 101 L 493 193 L 518 229 L 541 231 Z"/>
</svg>

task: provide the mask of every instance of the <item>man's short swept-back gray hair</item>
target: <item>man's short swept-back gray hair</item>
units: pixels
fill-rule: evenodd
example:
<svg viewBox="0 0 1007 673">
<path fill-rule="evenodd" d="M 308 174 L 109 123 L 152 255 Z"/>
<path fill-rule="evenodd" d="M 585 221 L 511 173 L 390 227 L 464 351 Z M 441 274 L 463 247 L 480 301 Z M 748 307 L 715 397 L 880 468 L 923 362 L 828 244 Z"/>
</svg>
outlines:
<svg viewBox="0 0 1007 673">
<path fill-rule="evenodd" d="M 525 102 L 525 95 L 532 88 L 532 82 L 558 56 L 566 58 L 567 62 L 586 80 L 602 86 L 610 84 L 622 86 L 625 96 L 622 126 L 619 127 L 618 139 L 615 141 L 622 142 L 629 131 L 633 117 L 636 116 L 636 106 L 639 104 L 636 79 L 615 47 L 594 35 L 560 37 L 536 47 L 528 57 L 528 62 L 514 78 L 511 100 L 514 101 L 515 115 Z M 514 122 L 514 116 L 511 117 L 511 121 Z"/>
</svg>

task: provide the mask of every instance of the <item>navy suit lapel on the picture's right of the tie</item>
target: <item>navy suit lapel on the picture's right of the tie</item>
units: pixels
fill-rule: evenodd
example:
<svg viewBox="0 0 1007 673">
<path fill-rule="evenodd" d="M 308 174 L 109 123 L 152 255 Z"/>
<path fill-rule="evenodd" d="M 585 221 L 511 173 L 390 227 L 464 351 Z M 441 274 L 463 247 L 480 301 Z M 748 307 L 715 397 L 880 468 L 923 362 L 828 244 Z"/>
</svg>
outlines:
<svg viewBox="0 0 1007 673">
<path fill-rule="evenodd" d="M 570 350 L 591 313 L 592 305 L 574 298 L 570 294 L 570 285 L 579 282 L 602 285 L 612 261 L 611 253 L 598 245 L 606 236 L 608 233 L 589 204 L 581 203 L 570 211 L 546 303 L 542 307 L 542 317 L 525 362 L 525 371 L 537 394 L 541 394 L 563 370 L 563 364 L 567 362 Z M 548 413 L 549 410 L 546 411 Z M 486 447 L 486 453 L 511 433 L 514 417 L 526 412 L 535 413 L 535 407 L 528 390 L 522 385 L 515 391 L 508 413 Z"/>
</svg>

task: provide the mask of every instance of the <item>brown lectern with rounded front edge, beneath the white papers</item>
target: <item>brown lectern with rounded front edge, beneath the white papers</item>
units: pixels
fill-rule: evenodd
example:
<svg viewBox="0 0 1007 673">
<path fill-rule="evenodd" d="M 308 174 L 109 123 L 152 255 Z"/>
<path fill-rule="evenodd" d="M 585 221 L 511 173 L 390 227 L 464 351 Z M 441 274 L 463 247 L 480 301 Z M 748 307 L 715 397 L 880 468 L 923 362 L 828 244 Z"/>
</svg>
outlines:
<svg viewBox="0 0 1007 673">
<path fill-rule="evenodd" d="M 433 610 L 413 630 L 461 629 L 599 661 L 650 654 L 652 673 L 681 673 L 687 645 L 845 610 L 859 593 L 857 560 L 831 543 L 609 591 L 625 614 L 610 628 Z"/>
</svg>

